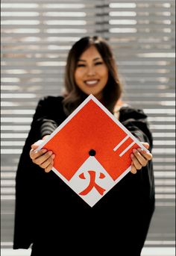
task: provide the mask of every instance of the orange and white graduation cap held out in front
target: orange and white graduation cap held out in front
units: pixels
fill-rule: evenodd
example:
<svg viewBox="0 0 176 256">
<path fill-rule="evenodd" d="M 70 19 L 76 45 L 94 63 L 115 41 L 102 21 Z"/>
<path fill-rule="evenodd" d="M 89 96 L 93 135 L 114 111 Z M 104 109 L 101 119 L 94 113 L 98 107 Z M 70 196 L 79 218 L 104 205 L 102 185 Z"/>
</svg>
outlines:
<svg viewBox="0 0 176 256">
<path fill-rule="evenodd" d="M 92 95 L 38 149 L 42 148 L 54 152 L 52 170 L 90 207 L 131 171 L 133 149 L 147 151 Z"/>
</svg>

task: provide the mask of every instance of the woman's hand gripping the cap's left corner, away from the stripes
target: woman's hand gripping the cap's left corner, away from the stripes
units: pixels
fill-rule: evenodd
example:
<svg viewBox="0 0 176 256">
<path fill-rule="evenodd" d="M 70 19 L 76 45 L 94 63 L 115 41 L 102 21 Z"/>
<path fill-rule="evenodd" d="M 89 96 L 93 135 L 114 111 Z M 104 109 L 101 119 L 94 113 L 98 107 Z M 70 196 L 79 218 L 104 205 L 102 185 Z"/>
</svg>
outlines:
<svg viewBox="0 0 176 256">
<path fill-rule="evenodd" d="M 55 155 L 53 152 L 47 151 L 47 149 L 40 149 L 34 152 L 41 143 L 43 143 L 43 140 L 38 140 L 36 143 L 32 144 L 29 155 L 33 163 L 45 169 L 45 172 L 50 172 L 53 167 Z"/>
</svg>

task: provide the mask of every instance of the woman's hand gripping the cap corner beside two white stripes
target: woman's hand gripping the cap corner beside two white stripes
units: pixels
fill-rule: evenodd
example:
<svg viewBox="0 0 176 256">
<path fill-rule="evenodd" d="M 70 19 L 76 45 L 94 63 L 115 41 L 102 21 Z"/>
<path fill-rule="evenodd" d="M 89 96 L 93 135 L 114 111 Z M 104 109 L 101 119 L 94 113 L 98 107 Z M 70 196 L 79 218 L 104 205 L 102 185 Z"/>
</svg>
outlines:
<svg viewBox="0 0 176 256">
<path fill-rule="evenodd" d="M 149 148 L 148 143 L 142 143 L 146 149 Z M 131 154 L 131 172 L 136 174 L 137 170 L 142 169 L 143 166 L 146 166 L 148 161 L 152 159 L 152 154 L 150 152 L 145 152 L 143 149 L 133 149 Z"/>
</svg>

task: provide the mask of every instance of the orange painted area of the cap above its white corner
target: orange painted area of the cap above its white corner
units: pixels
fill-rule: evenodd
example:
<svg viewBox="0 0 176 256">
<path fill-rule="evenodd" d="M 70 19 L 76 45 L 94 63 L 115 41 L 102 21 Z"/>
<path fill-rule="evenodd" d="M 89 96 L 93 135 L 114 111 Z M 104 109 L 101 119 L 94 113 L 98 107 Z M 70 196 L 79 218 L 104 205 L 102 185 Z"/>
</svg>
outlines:
<svg viewBox="0 0 176 256">
<path fill-rule="evenodd" d="M 54 168 L 68 181 L 89 157 L 89 150 L 94 149 L 95 158 L 116 180 L 131 165 L 131 151 L 139 148 L 136 144 L 122 157 L 119 154 L 133 142 L 131 138 L 117 149 L 113 149 L 127 134 L 119 125 L 101 110 L 92 99 L 45 144 L 56 157 Z"/>
</svg>

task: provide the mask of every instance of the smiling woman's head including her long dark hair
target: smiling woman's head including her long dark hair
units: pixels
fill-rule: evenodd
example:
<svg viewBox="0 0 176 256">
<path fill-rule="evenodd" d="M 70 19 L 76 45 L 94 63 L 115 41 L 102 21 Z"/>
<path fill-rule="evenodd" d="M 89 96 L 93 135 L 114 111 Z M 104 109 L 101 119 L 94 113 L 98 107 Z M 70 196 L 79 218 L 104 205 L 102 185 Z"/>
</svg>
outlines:
<svg viewBox="0 0 176 256">
<path fill-rule="evenodd" d="M 72 46 L 66 62 L 63 107 L 71 113 L 91 93 L 110 112 L 122 94 L 116 60 L 101 37 L 83 37 Z"/>
</svg>

